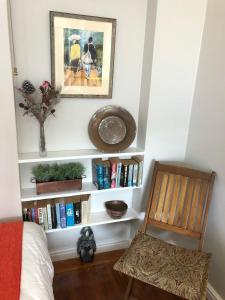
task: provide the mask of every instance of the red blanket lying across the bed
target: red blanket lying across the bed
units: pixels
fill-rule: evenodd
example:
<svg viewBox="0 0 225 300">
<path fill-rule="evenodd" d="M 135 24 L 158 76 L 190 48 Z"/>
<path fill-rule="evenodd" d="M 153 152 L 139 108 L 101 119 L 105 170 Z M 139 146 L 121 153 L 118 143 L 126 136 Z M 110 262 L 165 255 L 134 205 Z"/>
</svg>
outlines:
<svg viewBox="0 0 225 300">
<path fill-rule="evenodd" d="M 20 298 L 23 222 L 0 223 L 0 299 Z"/>
</svg>

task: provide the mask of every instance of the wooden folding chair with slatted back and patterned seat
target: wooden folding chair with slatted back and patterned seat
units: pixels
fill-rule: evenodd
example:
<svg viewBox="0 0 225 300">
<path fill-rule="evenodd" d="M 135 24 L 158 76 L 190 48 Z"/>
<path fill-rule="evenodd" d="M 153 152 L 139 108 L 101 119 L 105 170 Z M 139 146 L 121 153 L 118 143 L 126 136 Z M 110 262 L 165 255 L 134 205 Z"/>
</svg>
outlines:
<svg viewBox="0 0 225 300">
<path fill-rule="evenodd" d="M 145 220 L 114 269 L 185 299 L 206 299 L 210 254 L 202 252 L 215 173 L 155 162 Z M 146 234 L 148 225 L 198 240 L 198 250 Z"/>
</svg>

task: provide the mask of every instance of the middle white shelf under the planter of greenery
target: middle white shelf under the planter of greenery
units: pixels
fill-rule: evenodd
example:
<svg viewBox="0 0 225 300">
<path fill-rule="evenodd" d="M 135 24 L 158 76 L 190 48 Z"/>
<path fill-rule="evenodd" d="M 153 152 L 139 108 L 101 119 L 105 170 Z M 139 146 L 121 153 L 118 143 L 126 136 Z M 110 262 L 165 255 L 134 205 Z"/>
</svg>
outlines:
<svg viewBox="0 0 225 300">
<path fill-rule="evenodd" d="M 71 196 L 84 195 L 84 194 L 126 191 L 126 190 L 138 189 L 141 187 L 142 186 L 133 186 L 133 187 L 119 187 L 114 189 L 98 190 L 92 182 L 84 182 L 82 184 L 82 190 L 55 192 L 55 193 L 41 194 L 41 195 L 36 194 L 35 188 L 25 188 L 21 190 L 21 201 L 26 202 L 26 201 L 71 197 Z"/>
</svg>

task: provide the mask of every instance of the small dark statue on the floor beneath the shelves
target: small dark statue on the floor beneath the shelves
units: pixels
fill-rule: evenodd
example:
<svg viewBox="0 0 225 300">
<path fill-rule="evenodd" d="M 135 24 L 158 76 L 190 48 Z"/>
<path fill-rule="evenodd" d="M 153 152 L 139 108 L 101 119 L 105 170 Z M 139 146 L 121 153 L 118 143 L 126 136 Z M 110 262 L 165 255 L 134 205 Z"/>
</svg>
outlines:
<svg viewBox="0 0 225 300">
<path fill-rule="evenodd" d="M 82 262 L 92 262 L 96 252 L 94 233 L 90 226 L 83 227 L 80 233 L 81 237 L 77 242 L 77 253 Z"/>
</svg>

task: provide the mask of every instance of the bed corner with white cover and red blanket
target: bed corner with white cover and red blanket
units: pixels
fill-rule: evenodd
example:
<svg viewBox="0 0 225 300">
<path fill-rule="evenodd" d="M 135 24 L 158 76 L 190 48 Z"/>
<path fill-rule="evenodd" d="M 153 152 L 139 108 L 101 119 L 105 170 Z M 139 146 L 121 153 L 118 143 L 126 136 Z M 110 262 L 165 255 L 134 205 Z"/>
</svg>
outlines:
<svg viewBox="0 0 225 300">
<path fill-rule="evenodd" d="M 0 226 L 0 299 L 54 300 L 54 269 L 41 226 L 32 222 Z"/>
</svg>

